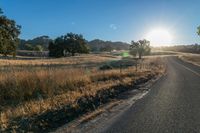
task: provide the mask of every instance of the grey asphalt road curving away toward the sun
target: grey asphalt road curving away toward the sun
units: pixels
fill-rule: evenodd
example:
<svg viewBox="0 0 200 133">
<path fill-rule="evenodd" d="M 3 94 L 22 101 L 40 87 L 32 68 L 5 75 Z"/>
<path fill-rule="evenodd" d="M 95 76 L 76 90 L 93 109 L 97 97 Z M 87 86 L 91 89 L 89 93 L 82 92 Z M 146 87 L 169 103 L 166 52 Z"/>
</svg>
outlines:
<svg viewBox="0 0 200 133">
<path fill-rule="evenodd" d="M 105 133 L 200 133 L 200 67 L 168 57 L 167 75 Z"/>
</svg>

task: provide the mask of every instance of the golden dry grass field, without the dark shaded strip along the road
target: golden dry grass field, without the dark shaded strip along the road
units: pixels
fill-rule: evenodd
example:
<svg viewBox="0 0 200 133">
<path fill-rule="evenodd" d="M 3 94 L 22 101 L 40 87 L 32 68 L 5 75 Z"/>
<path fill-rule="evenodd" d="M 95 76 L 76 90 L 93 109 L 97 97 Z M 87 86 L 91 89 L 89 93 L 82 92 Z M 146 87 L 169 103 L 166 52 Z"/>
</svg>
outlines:
<svg viewBox="0 0 200 133">
<path fill-rule="evenodd" d="M 78 59 L 77 59 L 78 58 Z M 48 63 L 95 63 L 108 61 L 110 57 L 75 57 L 45 60 Z M 32 65 L 44 63 L 35 60 Z M 68 62 L 65 62 L 68 61 Z M 2 63 L 3 62 L 3 63 Z M 0 64 L 6 64 L 4 60 Z M 42 68 L 26 67 L 32 61 L 8 61 L 11 69 L 0 72 L 0 131 L 7 129 L 16 118 L 29 118 L 44 112 L 57 110 L 65 105 L 76 106 L 77 100 L 84 96 L 95 96 L 99 90 L 113 89 L 118 85 L 131 85 L 137 79 L 158 75 L 164 72 L 160 58 L 145 59 L 136 67 L 123 70 L 100 71 L 98 68 Z M 20 64 L 21 63 L 21 64 Z M 18 70 L 11 64 L 21 65 Z M 11 70 L 11 71 L 10 71 Z M 114 91 L 114 90 L 113 90 Z M 9 127 L 10 128 L 10 127 Z"/>
</svg>

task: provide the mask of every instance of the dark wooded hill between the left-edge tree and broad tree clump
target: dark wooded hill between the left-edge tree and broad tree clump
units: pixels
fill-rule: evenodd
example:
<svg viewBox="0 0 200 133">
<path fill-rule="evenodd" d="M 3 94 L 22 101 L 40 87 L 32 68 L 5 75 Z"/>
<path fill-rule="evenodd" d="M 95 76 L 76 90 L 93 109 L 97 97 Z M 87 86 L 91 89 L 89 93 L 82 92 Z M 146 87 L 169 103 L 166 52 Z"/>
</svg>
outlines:
<svg viewBox="0 0 200 133">
<path fill-rule="evenodd" d="M 48 50 L 48 45 L 50 41 L 52 41 L 52 39 L 50 39 L 49 36 L 40 36 L 31 40 L 21 39 L 18 49 L 37 50 L 38 48 L 41 48 L 42 50 Z"/>
</svg>

